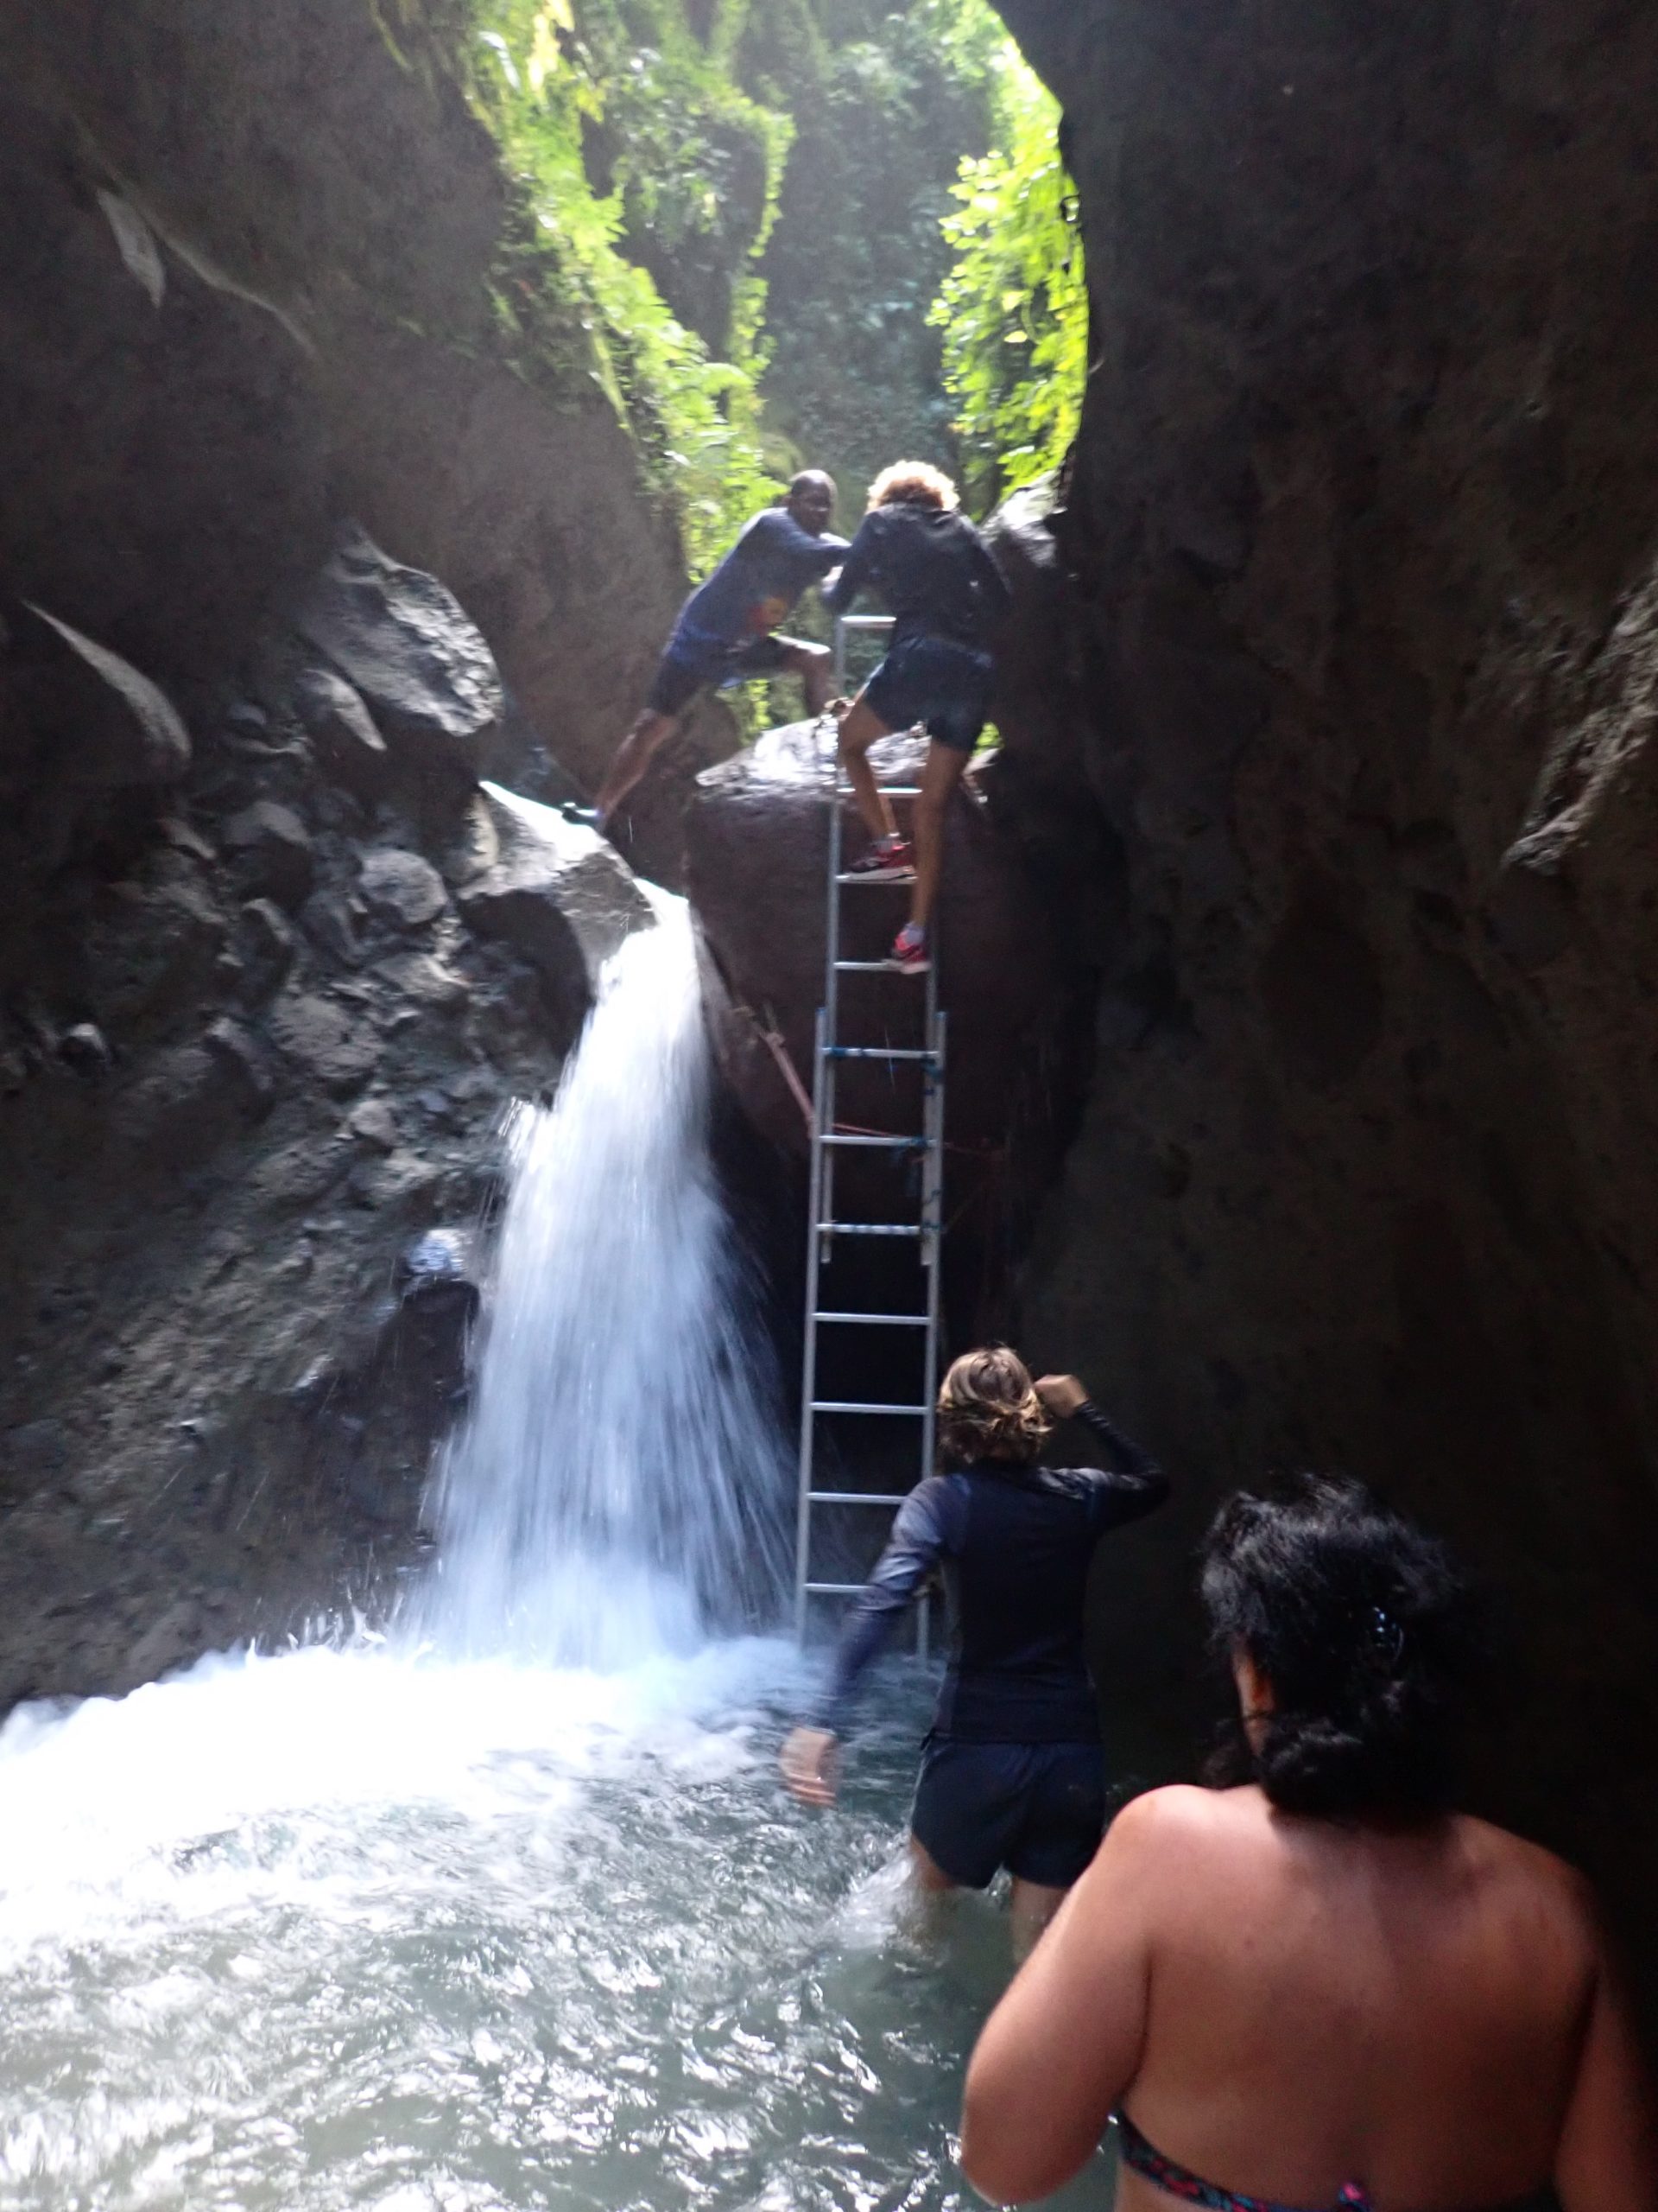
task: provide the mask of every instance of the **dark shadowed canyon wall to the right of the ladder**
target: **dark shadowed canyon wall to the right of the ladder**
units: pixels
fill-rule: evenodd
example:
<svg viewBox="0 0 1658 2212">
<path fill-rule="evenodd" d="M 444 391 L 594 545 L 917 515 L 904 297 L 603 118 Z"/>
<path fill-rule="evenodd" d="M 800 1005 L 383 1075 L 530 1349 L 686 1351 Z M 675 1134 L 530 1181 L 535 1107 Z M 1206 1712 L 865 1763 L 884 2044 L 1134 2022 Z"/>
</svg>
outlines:
<svg viewBox="0 0 1658 2212">
<path fill-rule="evenodd" d="M 1108 1663 L 1183 1708 L 1216 1493 L 1377 1480 L 1517 1624 L 1486 1801 L 1658 1958 L 1658 18 L 1004 13 L 1094 296 L 1059 648 L 1004 717 L 1103 841 L 1026 1334 L 1185 1495 Z"/>
</svg>

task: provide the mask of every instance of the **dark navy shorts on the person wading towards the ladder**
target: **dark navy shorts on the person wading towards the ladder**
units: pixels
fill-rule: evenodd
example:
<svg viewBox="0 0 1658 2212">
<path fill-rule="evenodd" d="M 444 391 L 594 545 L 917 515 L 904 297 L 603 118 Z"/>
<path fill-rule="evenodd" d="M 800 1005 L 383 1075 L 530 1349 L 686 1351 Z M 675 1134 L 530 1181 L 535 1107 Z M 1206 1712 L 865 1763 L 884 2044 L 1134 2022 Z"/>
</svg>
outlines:
<svg viewBox="0 0 1658 2212">
<path fill-rule="evenodd" d="M 997 1867 L 1070 1889 L 1105 1832 L 1105 1750 L 928 1736 L 909 1825 L 966 1889 L 984 1889 Z"/>
</svg>

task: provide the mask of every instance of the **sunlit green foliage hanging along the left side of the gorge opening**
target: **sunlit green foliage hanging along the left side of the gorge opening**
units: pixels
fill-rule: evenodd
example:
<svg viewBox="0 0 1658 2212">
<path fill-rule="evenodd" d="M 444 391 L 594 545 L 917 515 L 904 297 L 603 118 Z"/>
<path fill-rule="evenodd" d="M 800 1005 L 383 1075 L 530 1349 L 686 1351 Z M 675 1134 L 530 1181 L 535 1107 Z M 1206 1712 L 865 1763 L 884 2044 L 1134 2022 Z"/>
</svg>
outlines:
<svg viewBox="0 0 1658 2212">
<path fill-rule="evenodd" d="M 705 564 L 776 489 L 754 257 L 776 210 L 787 117 L 725 77 L 679 0 L 478 0 L 475 38 L 475 100 L 522 192 L 497 285 L 502 327 L 528 356 L 575 349 Z M 665 279 L 670 268 L 685 276 L 683 316 L 646 252 Z M 694 327 L 699 310 L 718 349 Z"/>
</svg>

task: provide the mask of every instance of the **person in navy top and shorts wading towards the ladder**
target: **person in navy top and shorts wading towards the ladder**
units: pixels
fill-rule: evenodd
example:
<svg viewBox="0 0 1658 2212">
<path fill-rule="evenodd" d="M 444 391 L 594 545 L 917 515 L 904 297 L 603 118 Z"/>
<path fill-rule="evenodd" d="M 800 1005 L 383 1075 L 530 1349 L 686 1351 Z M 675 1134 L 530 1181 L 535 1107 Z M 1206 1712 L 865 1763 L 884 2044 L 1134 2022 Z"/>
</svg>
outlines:
<svg viewBox="0 0 1658 2212">
<path fill-rule="evenodd" d="M 1054 1416 L 1085 1422 L 1112 1469 L 1037 1467 Z M 968 1352 L 937 1398 L 940 1458 L 893 1520 L 809 1728 L 783 1745 L 807 1805 L 836 1796 L 838 1739 L 869 1661 L 933 1568 L 951 1606 L 951 1663 L 911 1814 L 922 1889 L 984 1889 L 1012 1874 L 1024 1953 L 1099 1849 L 1105 1754 L 1083 1652 L 1083 1593 L 1108 1528 L 1167 1498 L 1167 1480 L 1077 1376 L 1030 1380 L 1006 1345 Z"/>
</svg>

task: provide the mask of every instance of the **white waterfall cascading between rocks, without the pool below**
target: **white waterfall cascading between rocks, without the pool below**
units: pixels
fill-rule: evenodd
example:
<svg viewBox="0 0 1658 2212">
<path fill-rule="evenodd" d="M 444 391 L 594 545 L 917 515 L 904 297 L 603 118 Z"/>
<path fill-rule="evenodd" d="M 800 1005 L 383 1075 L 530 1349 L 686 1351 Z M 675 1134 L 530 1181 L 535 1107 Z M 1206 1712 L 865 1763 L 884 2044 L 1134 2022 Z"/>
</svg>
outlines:
<svg viewBox="0 0 1658 2212">
<path fill-rule="evenodd" d="M 685 902 L 608 960 L 550 1108 L 520 1106 L 478 1389 L 440 1471 L 422 1626 L 615 1668 L 778 1593 L 785 1444 L 707 1150 Z"/>
</svg>

